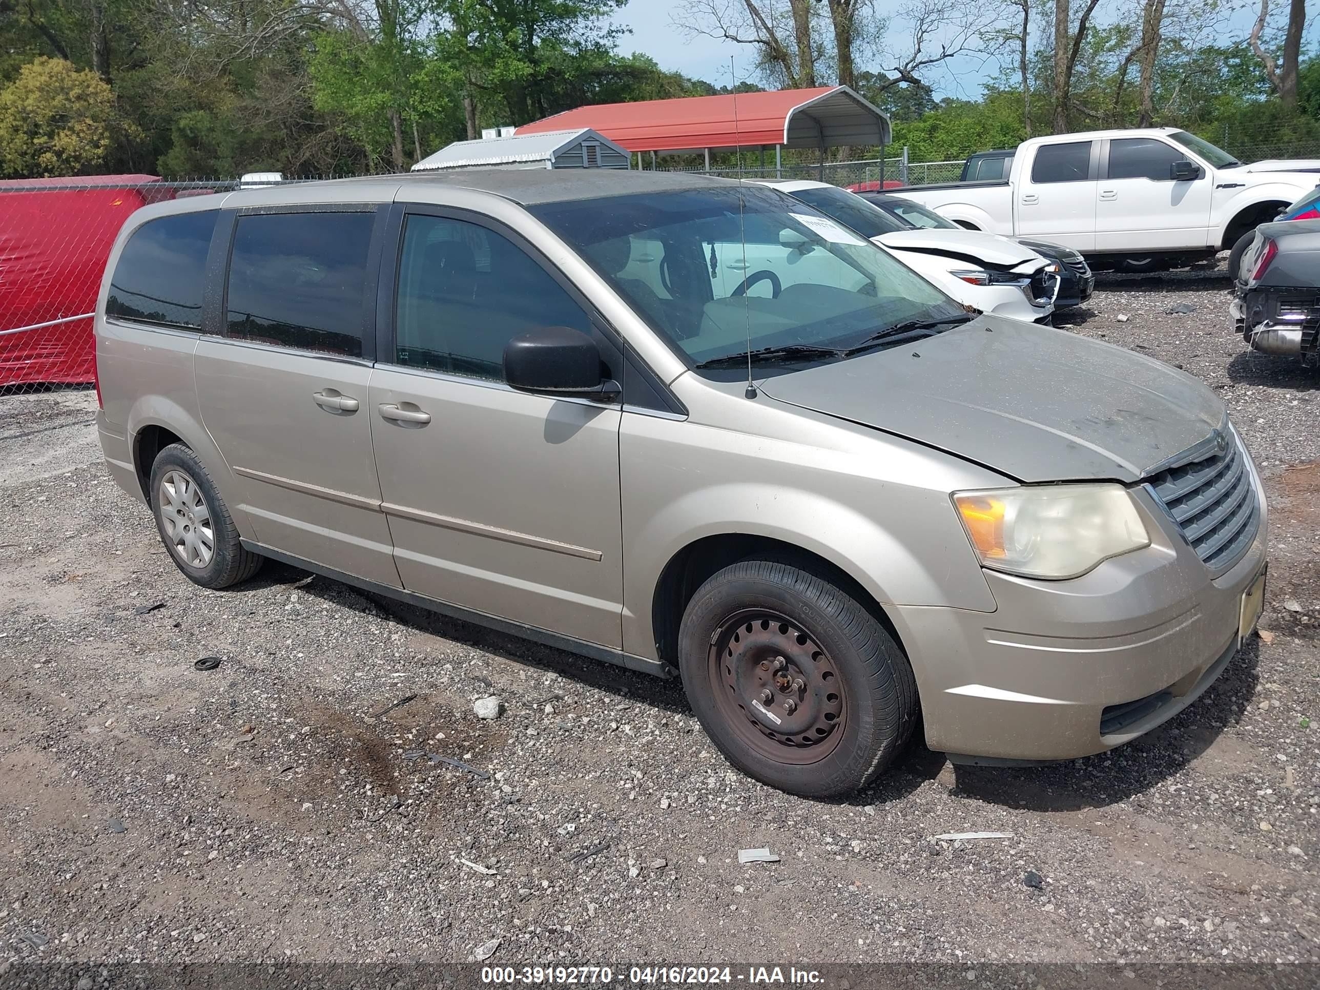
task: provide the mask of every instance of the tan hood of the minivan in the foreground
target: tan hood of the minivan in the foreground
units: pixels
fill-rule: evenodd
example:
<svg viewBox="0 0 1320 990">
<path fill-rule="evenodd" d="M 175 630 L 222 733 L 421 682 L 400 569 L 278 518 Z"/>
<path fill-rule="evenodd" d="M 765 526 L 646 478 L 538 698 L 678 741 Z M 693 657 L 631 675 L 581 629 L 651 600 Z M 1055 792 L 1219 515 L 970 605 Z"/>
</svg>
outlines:
<svg viewBox="0 0 1320 990">
<path fill-rule="evenodd" d="M 994 315 L 777 375 L 762 392 L 1022 482 L 1135 482 L 1225 416 L 1218 396 L 1168 364 Z"/>
</svg>

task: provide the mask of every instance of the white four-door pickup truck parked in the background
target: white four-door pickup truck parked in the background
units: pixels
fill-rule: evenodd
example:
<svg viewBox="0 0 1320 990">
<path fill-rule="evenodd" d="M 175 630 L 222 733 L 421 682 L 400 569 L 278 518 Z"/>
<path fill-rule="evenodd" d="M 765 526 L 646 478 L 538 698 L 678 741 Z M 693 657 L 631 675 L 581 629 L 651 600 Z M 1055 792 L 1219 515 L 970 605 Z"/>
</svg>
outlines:
<svg viewBox="0 0 1320 990">
<path fill-rule="evenodd" d="M 1018 145 L 1001 181 L 887 190 L 969 230 L 1040 238 L 1093 267 L 1155 271 L 1242 248 L 1320 183 L 1320 160 L 1243 165 L 1187 131 L 1090 131 Z"/>
</svg>

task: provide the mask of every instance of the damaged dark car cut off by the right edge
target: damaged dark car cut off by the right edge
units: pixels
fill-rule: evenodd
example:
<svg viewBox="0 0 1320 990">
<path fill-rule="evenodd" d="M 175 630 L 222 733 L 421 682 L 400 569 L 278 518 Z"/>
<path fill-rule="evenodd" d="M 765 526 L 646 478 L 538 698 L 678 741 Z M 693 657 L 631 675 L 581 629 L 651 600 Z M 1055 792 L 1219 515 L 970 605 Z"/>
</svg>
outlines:
<svg viewBox="0 0 1320 990">
<path fill-rule="evenodd" d="M 1320 364 L 1320 219 L 1255 228 L 1234 272 L 1230 313 L 1255 350 Z"/>
</svg>

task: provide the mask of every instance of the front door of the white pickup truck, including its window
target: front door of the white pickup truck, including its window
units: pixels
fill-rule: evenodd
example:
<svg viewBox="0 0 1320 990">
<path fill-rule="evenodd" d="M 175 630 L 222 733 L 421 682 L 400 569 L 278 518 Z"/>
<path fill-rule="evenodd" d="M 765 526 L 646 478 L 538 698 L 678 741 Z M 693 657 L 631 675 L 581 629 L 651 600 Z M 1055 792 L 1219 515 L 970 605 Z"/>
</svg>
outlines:
<svg viewBox="0 0 1320 990">
<path fill-rule="evenodd" d="M 1096 249 L 1162 251 L 1205 247 L 1214 180 L 1173 180 L 1187 152 L 1158 137 L 1115 137 L 1097 183 Z"/>
</svg>

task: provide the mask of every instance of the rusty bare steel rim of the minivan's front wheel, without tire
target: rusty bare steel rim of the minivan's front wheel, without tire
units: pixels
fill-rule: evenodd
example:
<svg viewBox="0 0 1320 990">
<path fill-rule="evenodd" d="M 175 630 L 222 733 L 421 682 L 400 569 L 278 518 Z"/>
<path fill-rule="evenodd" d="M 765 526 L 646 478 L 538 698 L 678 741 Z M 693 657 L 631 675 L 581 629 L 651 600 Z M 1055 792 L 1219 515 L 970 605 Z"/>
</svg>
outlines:
<svg viewBox="0 0 1320 990">
<path fill-rule="evenodd" d="M 780 612 L 741 610 L 719 623 L 709 676 L 721 714 L 759 755 L 825 759 L 843 735 L 843 678 L 816 639 Z"/>
</svg>

